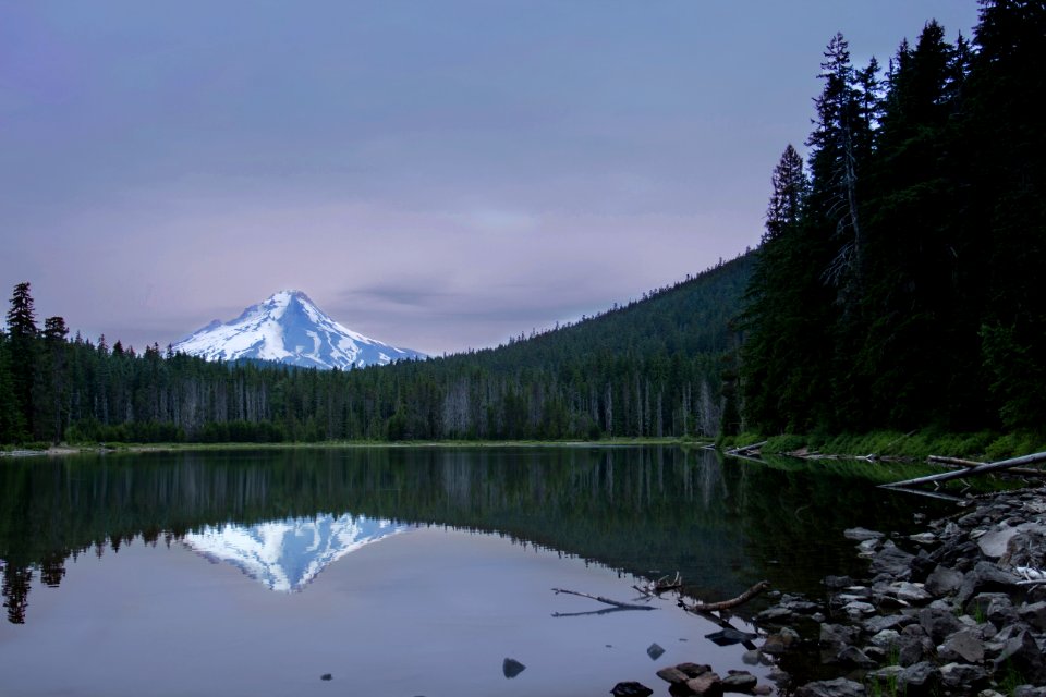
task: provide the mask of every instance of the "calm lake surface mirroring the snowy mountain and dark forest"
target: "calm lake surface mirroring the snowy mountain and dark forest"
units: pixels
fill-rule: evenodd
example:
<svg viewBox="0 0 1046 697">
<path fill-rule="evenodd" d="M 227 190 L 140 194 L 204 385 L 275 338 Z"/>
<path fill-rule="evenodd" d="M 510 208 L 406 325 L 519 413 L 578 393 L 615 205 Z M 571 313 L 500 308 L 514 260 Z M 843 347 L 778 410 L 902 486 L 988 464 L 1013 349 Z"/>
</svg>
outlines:
<svg viewBox="0 0 1046 697">
<path fill-rule="evenodd" d="M 669 447 L 0 460 L 0 695 L 668 694 L 654 673 L 682 661 L 766 682 L 670 597 L 599 612 L 551 589 L 631 602 L 678 571 L 705 601 L 764 578 L 823 597 L 862 567 L 843 529 L 950 511 L 876 489 L 883 467 Z"/>
</svg>

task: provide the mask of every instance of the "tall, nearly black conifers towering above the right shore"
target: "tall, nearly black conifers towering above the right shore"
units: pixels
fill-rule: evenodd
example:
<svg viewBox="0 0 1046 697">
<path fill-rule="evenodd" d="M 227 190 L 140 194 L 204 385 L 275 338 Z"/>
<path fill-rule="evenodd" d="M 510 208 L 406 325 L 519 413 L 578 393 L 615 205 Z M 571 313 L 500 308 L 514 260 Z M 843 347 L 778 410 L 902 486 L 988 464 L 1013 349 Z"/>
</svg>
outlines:
<svg viewBox="0 0 1046 697">
<path fill-rule="evenodd" d="M 746 428 L 1046 423 L 1046 3 L 981 5 L 972 41 L 929 22 L 885 71 L 828 45 L 747 291 Z"/>
</svg>

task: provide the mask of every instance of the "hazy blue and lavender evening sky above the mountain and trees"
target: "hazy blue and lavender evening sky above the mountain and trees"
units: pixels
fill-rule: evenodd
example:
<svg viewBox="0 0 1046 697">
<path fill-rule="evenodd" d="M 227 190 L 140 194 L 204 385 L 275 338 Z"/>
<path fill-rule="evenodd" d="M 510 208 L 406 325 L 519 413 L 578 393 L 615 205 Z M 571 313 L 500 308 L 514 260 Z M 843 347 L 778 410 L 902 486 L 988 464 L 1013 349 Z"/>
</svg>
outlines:
<svg viewBox="0 0 1046 697">
<path fill-rule="evenodd" d="M 138 348 L 283 289 L 497 345 L 755 247 L 831 36 L 932 17 L 976 3 L 0 0 L 0 292 Z"/>
</svg>

